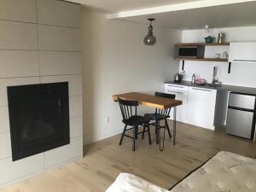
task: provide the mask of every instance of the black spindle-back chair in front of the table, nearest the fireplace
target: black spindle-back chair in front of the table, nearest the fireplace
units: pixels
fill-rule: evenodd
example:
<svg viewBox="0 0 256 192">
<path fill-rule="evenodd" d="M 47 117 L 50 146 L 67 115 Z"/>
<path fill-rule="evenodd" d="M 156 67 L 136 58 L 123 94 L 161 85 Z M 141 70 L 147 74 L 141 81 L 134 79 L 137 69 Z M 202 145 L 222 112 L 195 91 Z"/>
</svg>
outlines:
<svg viewBox="0 0 256 192">
<path fill-rule="evenodd" d="M 122 117 L 123 117 L 122 121 L 125 124 L 125 128 L 122 133 L 119 145 L 122 144 L 124 137 L 129 137 L 129 138 L 133 139 L 132 150 L 135 151 L 137 135 L 141 134 L 141 133 L 144 134 L 144 132 L 146 131 L 146 127 L 147 127 L 147 131 L 148 131 L 148 143 L 151 144 L 151 137 L 150 137 L 150 130 L 149 130 L 150 118 L 137 115 L 138 102 L 122 100 L 120 98 L 118 98 L 118 102 L 119 102 L 119 106 L 120 106 Z M 143 125 L 142 132 L 138 132 L 139 125 Z M 127 126 L 132 126 L 132 127 L 127 129 Z M 125 134 L 126 131 L 129 131 L 132 129 L 133 129 L 133 137 Z"/>
</svg>

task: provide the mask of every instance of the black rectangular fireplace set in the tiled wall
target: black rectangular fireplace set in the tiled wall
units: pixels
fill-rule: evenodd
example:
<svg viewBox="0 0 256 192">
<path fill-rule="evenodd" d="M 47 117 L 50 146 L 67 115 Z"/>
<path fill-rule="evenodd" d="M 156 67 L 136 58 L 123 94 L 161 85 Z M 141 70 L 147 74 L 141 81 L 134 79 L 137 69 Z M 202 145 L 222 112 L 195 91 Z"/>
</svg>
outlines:
<svg viewBox="0 0 256 192">
<path fill-rule="evenodd" d="M 68 83 L 8 87 L 13 161 L 70 143 Z"/>
</svg>

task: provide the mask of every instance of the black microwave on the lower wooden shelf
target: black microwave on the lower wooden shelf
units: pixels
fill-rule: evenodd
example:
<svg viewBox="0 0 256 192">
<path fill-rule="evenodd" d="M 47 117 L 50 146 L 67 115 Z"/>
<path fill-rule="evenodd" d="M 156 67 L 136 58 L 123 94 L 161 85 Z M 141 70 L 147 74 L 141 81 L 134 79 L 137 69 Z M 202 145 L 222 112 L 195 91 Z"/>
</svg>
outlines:
<svg viewBox="0 0 256 192">
<path fill-rule="evenodd" d="M 179 46 L 177 48 L 177 57 L 203 58 L 205 46 Z"/>
</svg>

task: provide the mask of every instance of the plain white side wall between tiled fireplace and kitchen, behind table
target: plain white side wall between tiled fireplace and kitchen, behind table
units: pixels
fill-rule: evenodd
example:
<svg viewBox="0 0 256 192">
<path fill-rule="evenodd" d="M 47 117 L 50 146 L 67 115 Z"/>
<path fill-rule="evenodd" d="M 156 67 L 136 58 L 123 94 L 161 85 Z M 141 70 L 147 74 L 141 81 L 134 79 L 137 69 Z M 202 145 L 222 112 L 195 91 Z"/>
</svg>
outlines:
<svg viewBox="0 0 256 192">
<path fill-rule="evenodd" d="M 150 47 L 143 45 L 148 26 L 107 20 L 106 15 L 86 9 L 82 23 L 84 143 L 91 143 L 123 130 L 112 95 L 164 90 L 164 81 L 177 73 L 173 43 L 181 40 L 181 32 L 155 28 L 157 44 Z"/>
</svg>

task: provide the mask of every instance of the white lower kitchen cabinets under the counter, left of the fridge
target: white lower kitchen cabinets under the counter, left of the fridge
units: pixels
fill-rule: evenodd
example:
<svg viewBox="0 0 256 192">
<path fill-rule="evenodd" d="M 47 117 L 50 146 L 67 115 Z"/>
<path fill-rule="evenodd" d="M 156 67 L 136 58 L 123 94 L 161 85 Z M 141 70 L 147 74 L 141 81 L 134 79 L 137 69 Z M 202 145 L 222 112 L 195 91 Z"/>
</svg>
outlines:
<svg viewBox="0 0 256 192">
<path fill-rule="evenodd" d="M 183 105 L 177 107 L 177 121 L 214 130 L 217 90 L 165 84 L 165 92 L 174 94 L 177 100 L 183 101 Z"/>
</svg>

